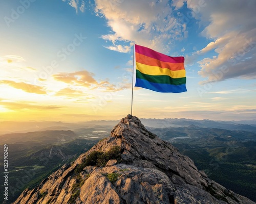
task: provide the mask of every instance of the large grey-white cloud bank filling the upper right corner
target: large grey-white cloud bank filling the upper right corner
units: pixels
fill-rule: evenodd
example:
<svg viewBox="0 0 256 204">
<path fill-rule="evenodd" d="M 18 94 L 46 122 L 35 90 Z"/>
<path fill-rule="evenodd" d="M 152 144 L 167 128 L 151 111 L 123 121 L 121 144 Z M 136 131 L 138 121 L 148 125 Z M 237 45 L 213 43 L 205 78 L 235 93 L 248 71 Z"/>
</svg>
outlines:
<svg viewBox="0 0 256 204">
<path fill-rule="evenodd" d="M 198 73 L 206 78 L 203 83 L 231 78 L 256 79 L 256 1 L 216 0 L 199 7 L 198 1 L 187 0 L 187 7 L 201 24 L 207 24 L 202 35 L 212 39 L 195 55 L 216 52 L 215 58 L 199 62 Z"/>
</svg>

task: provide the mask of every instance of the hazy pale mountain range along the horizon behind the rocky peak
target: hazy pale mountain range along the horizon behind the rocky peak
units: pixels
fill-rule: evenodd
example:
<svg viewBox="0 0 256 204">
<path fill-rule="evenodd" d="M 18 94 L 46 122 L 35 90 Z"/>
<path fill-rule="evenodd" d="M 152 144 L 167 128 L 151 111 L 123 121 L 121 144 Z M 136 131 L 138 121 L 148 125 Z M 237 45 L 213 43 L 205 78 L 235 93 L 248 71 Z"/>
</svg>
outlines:
<svg viewBox="0 0 256 204">
<path fill-rule="evenodd" d="M 165 118 L 165 119 L 146 119 L 141 121 L 148 127 L 184 127 L 195 125 L 198 127 L 219 128 L 227 130 L 243 130 L 256 132 L 256 120 L 241 121 L 215 121 L 215 120 L 194 120 L 186 118 Z M 109 127 L 109 130 L 118 123 L 118 120 L 92 120 L 78 123 L 68 123 L 60 121 L 2 121 L 0 122 L 0 135 L 6 133 L 27 133 L 33 131 L 46 130 L 76 130 L 83 127 Z"/>
</svg>

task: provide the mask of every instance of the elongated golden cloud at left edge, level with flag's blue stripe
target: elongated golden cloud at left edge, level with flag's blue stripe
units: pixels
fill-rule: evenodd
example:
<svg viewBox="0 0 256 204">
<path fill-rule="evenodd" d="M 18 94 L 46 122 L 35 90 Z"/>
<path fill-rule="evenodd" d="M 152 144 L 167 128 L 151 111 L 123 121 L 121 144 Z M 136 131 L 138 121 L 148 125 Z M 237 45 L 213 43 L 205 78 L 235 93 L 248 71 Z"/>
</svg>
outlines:
<svg viewBox="0 0 256 204">
<path fill-rule="evenodd" d="M 15 89 L 21 89 L 28 93 L 47 94 L 46 90 L 43 87 L 28 84 L 25 82 L 14 82 L 9 80 L 2 80 L 0 81 L 0 84 L 8 85 Z"/>
</svg>

